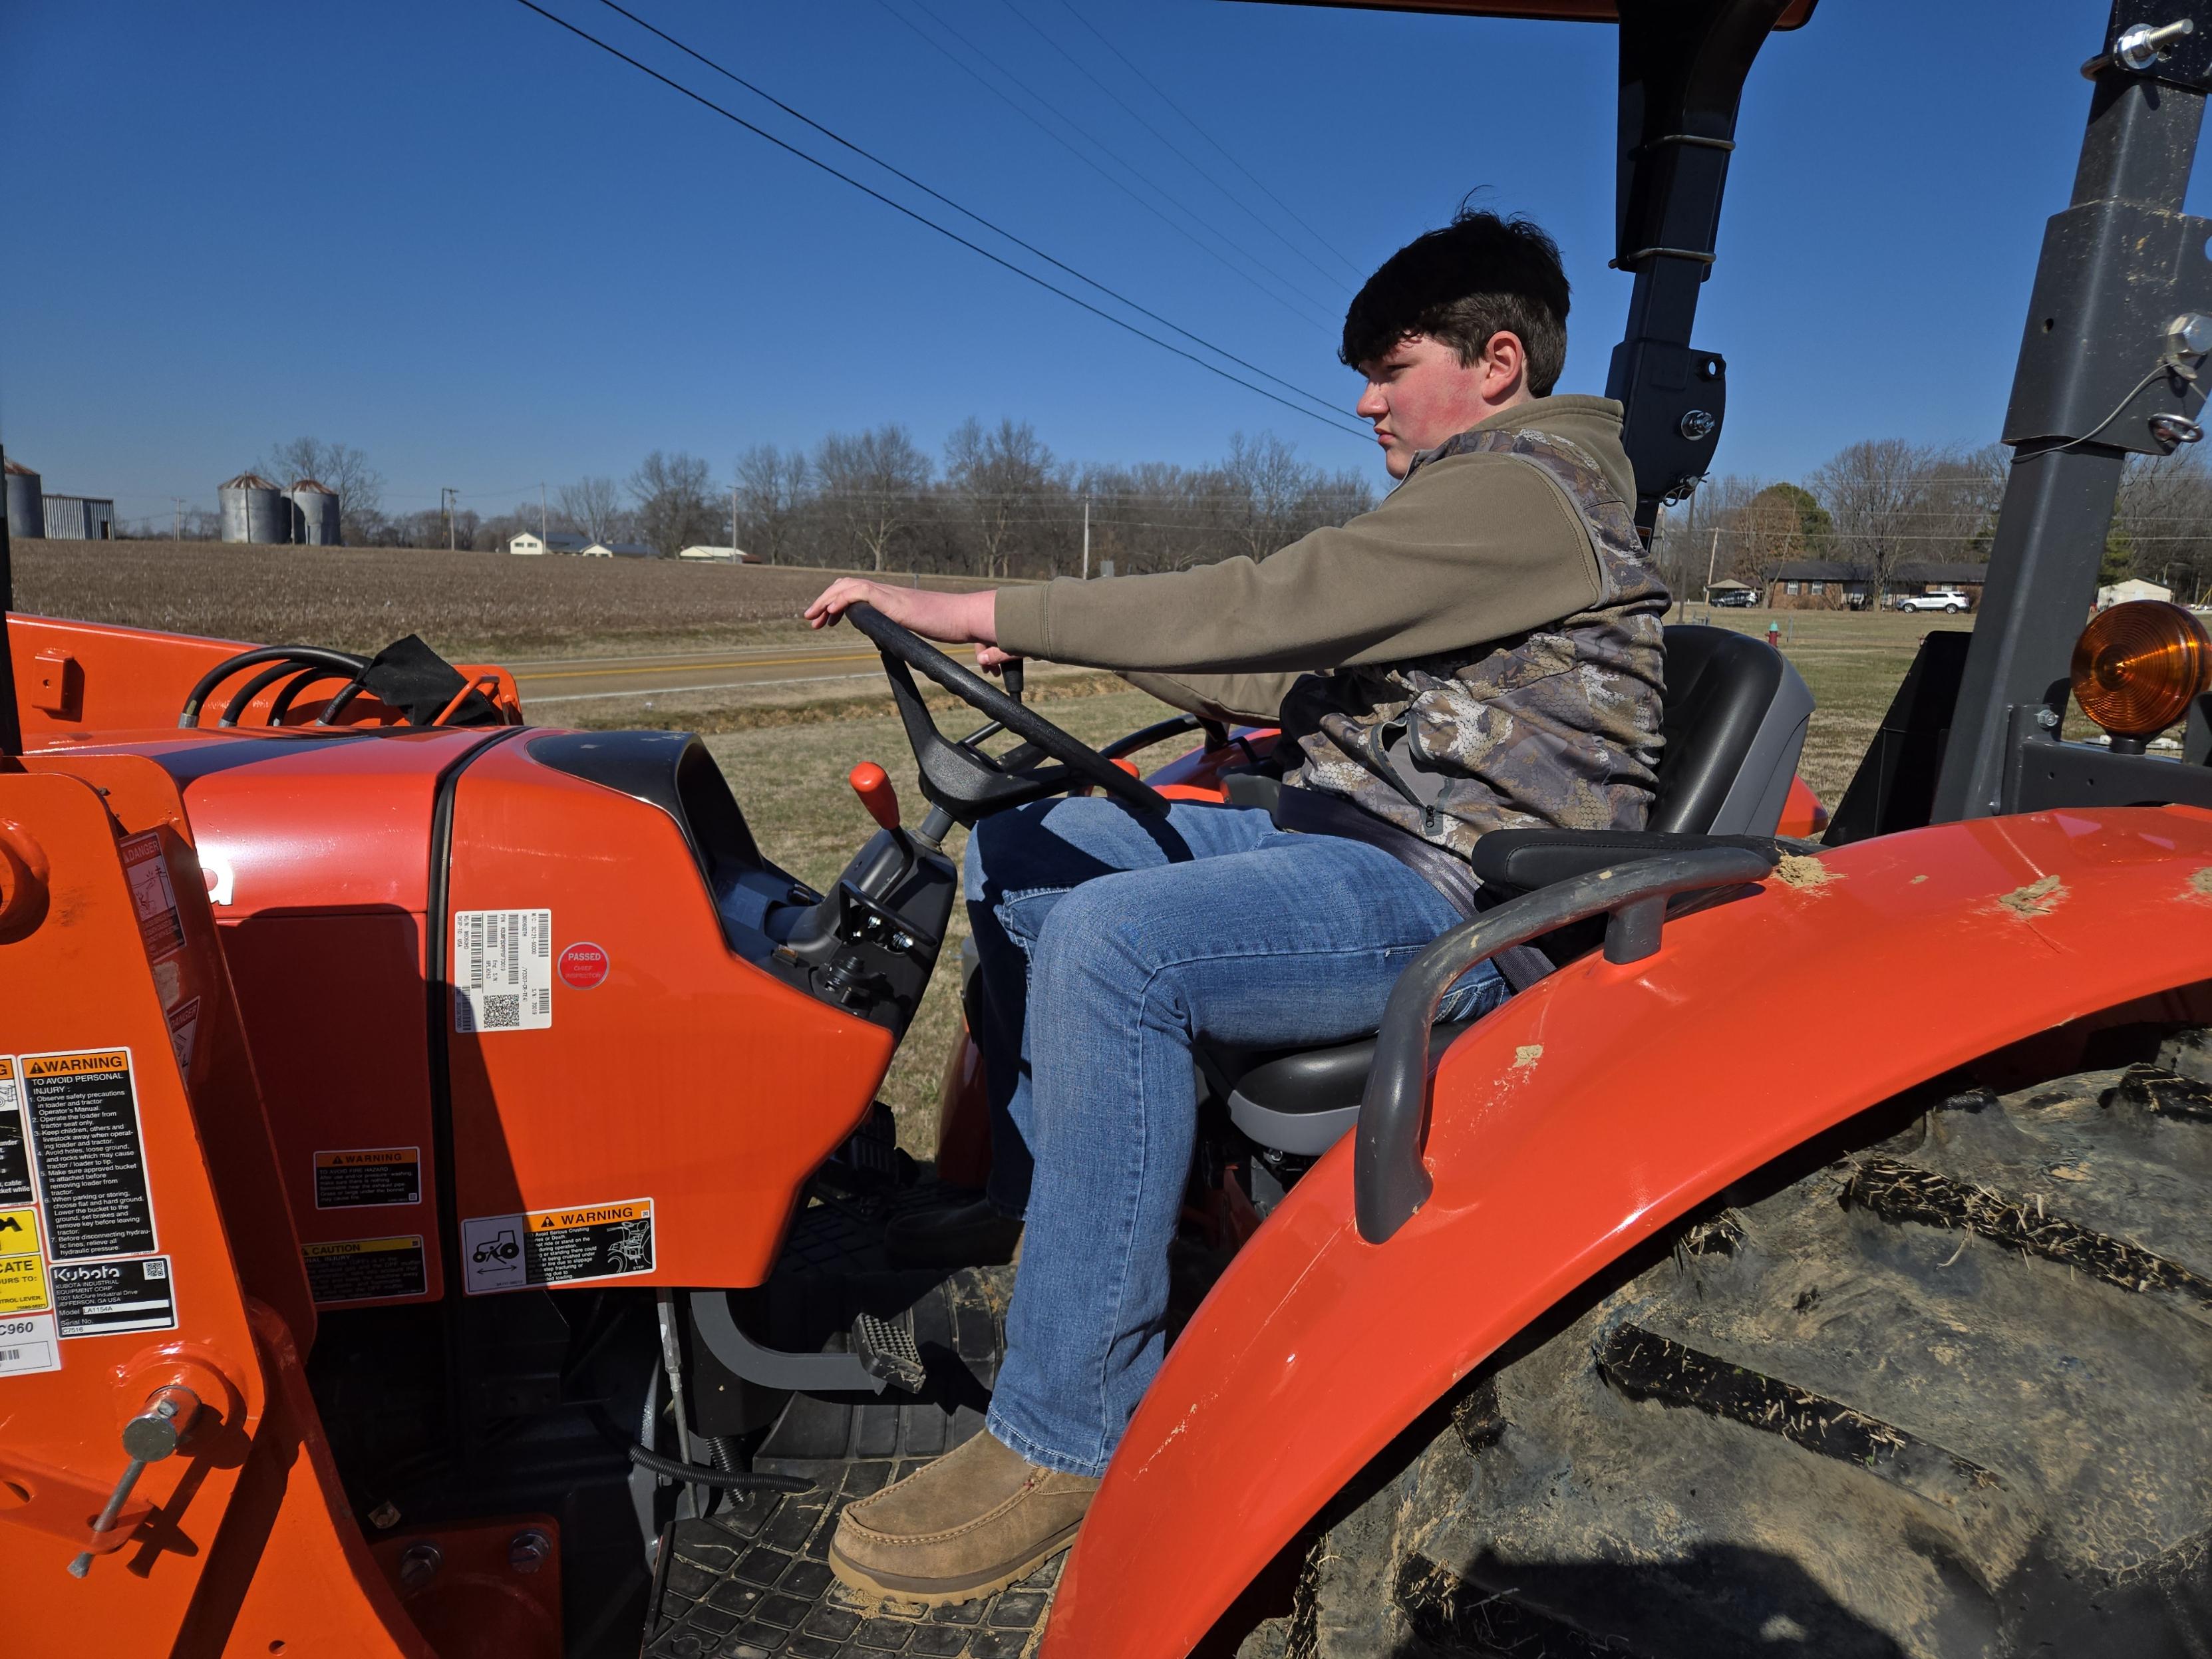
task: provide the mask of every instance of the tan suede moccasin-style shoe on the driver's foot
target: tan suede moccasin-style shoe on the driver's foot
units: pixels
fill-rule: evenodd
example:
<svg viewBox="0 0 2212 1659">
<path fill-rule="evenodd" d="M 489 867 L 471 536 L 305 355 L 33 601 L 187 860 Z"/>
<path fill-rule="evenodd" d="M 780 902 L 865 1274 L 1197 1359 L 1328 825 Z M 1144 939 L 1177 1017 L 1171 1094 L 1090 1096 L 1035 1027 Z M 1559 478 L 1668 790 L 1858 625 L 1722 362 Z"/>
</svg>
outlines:
<svg viewBox="0 0 2212 1659">
<path fill-rule="evenodd" d="M 852 1504 L 830 1568 L 856 1590 L 922 1606 L 975 1601 L 1064 1551 L 1099 1489 L 1040 1469 L 989 1429 Z"/>
</svg>

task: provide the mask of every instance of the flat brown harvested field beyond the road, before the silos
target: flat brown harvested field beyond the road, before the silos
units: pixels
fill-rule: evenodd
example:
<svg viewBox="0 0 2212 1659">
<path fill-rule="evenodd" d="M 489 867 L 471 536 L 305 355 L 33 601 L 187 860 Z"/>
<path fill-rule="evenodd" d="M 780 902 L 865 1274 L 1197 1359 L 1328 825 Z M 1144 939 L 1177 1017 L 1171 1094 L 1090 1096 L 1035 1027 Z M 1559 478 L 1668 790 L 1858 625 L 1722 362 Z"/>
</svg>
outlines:
<svg viewBox="0 0 2212 1659">
<path fill-rule="evenodd" d="M 338 650 L 420 633 L 462 661 L 772 639 L 838 575 L 442 549 L 33 540 L 15 542 L 13 566 L 15 608 L 46 617 Z"/>
</svg>

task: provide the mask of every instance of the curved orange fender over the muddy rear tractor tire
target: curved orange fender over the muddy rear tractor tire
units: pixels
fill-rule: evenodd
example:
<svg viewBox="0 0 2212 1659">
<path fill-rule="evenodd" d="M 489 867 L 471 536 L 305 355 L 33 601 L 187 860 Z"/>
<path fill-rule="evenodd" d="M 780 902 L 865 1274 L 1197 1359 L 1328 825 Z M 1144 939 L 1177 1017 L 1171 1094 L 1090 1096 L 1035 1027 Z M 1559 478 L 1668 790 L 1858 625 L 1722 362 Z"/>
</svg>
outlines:
<svg viewBox="0 0 2212 1659">
<path fill-rule="evenodd" d="M 1048 1659 L 1186 1655 L 1506 1338 L 1812 1135 L 2124 1002 L 2172 993 L 2143 1018 L 2212 1018 L 2208 812 L 1984 818 L 1792 869 L 1798 885 L 1681 918 L 1644 962 L 1575 962 L 1460 1037 L 1436 1077 L 1436 1194 L 1391 1241 L 1354 1225 L 1352 1137 L 1314 1166 L 1137 1411 Z"/>
</svg>

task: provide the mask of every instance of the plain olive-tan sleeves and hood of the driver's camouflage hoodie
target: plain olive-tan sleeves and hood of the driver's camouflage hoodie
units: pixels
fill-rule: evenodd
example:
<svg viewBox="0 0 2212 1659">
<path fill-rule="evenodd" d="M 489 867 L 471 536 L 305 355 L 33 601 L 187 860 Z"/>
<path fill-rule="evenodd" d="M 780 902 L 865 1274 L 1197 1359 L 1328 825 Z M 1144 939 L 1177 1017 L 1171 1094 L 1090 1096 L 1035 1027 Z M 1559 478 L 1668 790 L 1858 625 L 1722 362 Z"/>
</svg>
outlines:
<svg viewBox="0 0 2212 1659">
<path fill-rule="evenodd" d="M 1475 429 L 1566 438 L 1637 498 L 1621 405 L 1608 398 L 1535 398 Z M 1000 588 L 998 644 L 1113 668 L 1197 714 L 1274 721 L 1298 675 L 1464 650 L 1597 595 L 1597 553 L 1559 484 L 1506 453 L 1460 453 L 1261 562 Z"/>
</svg>

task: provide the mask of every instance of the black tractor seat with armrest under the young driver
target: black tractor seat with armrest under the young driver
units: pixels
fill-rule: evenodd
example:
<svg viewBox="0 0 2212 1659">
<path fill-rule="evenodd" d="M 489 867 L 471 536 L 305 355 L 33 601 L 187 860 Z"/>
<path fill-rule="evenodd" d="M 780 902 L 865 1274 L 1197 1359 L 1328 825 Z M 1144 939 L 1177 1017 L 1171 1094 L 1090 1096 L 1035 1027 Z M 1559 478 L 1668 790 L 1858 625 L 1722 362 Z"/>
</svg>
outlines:
<svg viewBox="0 0 2212 1659">
<path fill-rule="evenodd" d="M 1812 692 L 1767 644 L 1728 628 L 1666 630 L 1666 714 L 1659 732 L 1659 790 L 1650 827 L 1493 830 L 1475 845 L 1484 891 L 1504 898 L 1632 858 L 1710 845 L 1772 847 L 1781 823 Z M 1566 960 L 1595 945 L 1593 925 L 1551 942 Z M 1438 1024 L 1429 1053 L 1440 1055 L 1473 1020 Z M 1256 1144 L 1318 1157 L 1358 1121 L 1376 1040 L 1321 1048 L 1228 1048 L 1201 1044 L 1199 1077 Z"/>
</svg>

